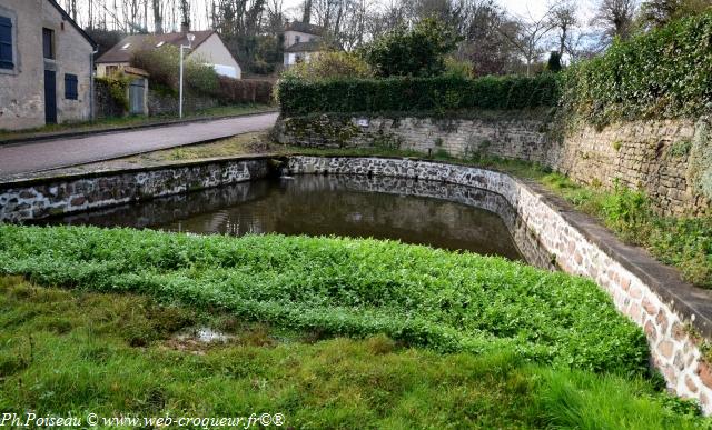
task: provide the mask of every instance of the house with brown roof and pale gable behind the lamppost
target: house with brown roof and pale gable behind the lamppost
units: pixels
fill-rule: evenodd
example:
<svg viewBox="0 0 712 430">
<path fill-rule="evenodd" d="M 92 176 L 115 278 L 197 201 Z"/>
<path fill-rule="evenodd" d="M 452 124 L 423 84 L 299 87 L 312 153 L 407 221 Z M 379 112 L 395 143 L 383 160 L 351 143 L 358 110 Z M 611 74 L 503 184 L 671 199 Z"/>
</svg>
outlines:
<svg viewBox="0 0 712 430">
<path fill-rule="evenodd" d="M 187 29 L 177 33 L 132 34 L 123 38 L 97 60 L 97 76 L 105 77 L 119 70 L 123 71 L 129 67 L 132 52 L 140 48 L 158 49 L 165 44 L 188 46 L 186 38 L 188 33 L 195 34 L 196 38 L 191 43 L 192 48 L 186 51 L 186 59 L 210 64 L 220 76 L 241 78 L 240 66 L 225 47 L 217 32 L 214 30 L 187 31 Z"/>
</svg>

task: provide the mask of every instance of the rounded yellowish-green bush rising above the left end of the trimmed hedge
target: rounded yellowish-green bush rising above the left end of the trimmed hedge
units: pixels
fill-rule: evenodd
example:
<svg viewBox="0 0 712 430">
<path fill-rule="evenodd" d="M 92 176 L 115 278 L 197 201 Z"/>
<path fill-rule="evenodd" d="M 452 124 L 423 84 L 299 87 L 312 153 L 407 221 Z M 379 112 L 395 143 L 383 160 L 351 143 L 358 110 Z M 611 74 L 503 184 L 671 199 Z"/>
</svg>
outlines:
<svg viewBox="0 0 712 430">
<path fill-rule="evenodd" d="M 330 78 L 370 78 L 373 70 L 362 58 L 350 52 L 322 52 L 283 73 L 283 79 L 314 81 Z"/>
</svg>

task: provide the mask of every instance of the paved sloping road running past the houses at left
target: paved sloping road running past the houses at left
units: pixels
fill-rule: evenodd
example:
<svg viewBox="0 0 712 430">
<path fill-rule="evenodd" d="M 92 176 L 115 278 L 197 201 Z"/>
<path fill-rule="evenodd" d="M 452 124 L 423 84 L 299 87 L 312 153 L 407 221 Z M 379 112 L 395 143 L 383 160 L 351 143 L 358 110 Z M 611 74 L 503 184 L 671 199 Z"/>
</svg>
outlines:
<svg viewBox="0 0 712 430">
<path fill-rule="evenodd" d="M 0 147 L 0 178 L 102 161 L 266 130 L 277 113 Z"/>
</svg>

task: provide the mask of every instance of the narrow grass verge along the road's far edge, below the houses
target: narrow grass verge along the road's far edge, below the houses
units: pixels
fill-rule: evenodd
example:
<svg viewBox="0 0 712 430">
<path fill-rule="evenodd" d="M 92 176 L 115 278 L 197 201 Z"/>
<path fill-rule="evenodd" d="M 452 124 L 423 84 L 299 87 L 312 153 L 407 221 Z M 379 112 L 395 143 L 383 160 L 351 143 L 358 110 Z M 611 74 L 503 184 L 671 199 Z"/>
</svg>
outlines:
<svg viewBox="0 0 712 430">
<path fill-rule="evenodd" d="M 209 108 L 205 110 L 200 110 L 197 112 L 191 112 L 186 114 L 185 119 L 196 119 L 196 118 L 210 118 L 210 117 L 228 117 L 228 116 L 238 116 L 238 114 L 247 114 L 247 113 L 258 113 L 264 111 L 274 110 L 274 107 L 264 106 L 264 104 L 240 104 L 240 106 L 224 106 Z M 131 126 L 145 126 L 152 123 L 161 123 L 167 121 L 178 120 L 177 114 L 164 114 L 156 117 L 145 117 L 145 116 L 129 116 L 129 117 L 112 117 L 112 118 L 103 118 L 97 121 L 87 121 L 87 122 L 66 122 L 61 124 L 48 124 L 44 127 L 40 127 L 37 129 L 29 130 L 0 130 L 0 142 L 8 139 L 21 139 L 21 138 L 30 138 L 42 134 L 52 134 L 52 133 L 61 133 L 63 131 L 101 131 L 108 130 L 112 128 L 120 127 L 131 127 Z"/>
</svg>

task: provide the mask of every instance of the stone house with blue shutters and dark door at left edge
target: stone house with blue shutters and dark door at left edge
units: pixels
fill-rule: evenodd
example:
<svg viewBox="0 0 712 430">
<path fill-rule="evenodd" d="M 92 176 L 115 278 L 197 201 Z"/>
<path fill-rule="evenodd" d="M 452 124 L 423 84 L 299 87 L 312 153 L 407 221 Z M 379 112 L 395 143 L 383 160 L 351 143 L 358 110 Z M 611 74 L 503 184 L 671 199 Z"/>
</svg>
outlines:
<svg viewBox="0 0 712 430">
<path fill-rule="evenodd" d="M 0 129 L 90 120 L 95 48 L 55 0 L 0 1 Z"/>
</svg>

